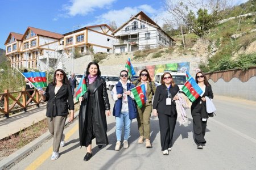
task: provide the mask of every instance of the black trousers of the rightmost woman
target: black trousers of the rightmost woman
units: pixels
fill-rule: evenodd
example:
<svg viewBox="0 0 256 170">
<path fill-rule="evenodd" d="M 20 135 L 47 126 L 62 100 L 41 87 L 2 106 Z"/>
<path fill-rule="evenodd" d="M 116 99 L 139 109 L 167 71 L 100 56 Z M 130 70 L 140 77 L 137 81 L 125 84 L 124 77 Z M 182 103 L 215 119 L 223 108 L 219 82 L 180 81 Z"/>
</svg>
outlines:
<svg viewBox="0 0 256 170">
<path fill-rule="evenodd" d="M 200 113 L 195 113 L 193 117 L 193 131 L 197 145 L 206 143 L 204 139 L 207 121 L 202 121 Z"/>
</svg>

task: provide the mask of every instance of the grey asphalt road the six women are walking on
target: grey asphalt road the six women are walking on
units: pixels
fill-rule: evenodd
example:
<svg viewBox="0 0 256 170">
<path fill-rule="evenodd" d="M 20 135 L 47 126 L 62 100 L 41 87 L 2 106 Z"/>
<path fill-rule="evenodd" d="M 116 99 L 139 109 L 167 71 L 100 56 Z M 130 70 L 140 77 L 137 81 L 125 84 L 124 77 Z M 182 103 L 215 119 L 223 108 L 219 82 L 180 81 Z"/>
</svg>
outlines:
<svg viewBox="0 0 256 170">
<path fill-rule="evenodd" d="M 111 98 L 110 101 L 113 107 Z M 208 120 L 203 150 L 197 150 L 193 141 L 189 110 L 188 124 L 176 124 L 174 146 L 168 156 L 160 148 L 157 117 L 150 121 L 152 148 L 137 143 L 137 121 L 133 120 L 130 147 L 115 151 L 115 119 L 110 116 L 110 144 L 99 149 L 93 140 L 93 157 L 88 162 L 83 161 L 86 149 L 79 146 L 76 120 L 64 130 L 67 145 L 60 148 L 59 159 L 51 160 L 49 139 L 11 169 L 256 169 L 256 102 L 223 96 L 216 96 L 213 101 L 217 115 Z"/>
</svg>

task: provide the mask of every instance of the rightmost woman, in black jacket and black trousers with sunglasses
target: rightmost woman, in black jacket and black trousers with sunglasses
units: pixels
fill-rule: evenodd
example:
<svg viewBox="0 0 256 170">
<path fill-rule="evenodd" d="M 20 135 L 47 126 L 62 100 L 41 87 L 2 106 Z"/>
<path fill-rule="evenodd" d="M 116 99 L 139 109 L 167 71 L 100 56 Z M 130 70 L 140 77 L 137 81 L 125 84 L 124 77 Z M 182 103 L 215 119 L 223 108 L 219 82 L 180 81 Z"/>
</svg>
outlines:
<svg viewBox="0 0 256 170">
<path fill-rule="evenodd" d="M 199 85 L 203 93 L 191 105 L 191 114 L 193 117 L 193 131 L 195 135 L 195 142 L 198 149 L 203 149 L 206 143 L 204 139 L 205 130 L 207 126 L 208 113 L 206 110 L 205 96 L 213 99 L 212 87 L 203 72 L 196 73 L 196 83 Z"/>
</svg>

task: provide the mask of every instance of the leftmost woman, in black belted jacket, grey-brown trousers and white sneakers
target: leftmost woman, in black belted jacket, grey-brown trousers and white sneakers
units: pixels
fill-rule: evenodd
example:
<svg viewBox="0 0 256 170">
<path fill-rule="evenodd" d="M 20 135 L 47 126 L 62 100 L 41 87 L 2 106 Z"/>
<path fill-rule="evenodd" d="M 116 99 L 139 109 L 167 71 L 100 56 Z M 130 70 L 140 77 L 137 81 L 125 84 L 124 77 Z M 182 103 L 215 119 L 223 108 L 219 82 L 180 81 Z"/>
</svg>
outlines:
<svg viewBox="0 0 256 170">
<path fill-rule="evenodd" d="M 65 145 L 63 134 L 68 109 L 71 111 L 69 122 L 74 119 L 74 101 L 71 87 L 65 72 L 57 69 L 54 73 L 53 82 L 49 83 L 46 91 L 39 90 L 41 99 L 47 103 L 47 124 L 49 132 L 53 135 L 53 152 L 51 159 L 59 158 L 59 148 Z"/>
</svg>

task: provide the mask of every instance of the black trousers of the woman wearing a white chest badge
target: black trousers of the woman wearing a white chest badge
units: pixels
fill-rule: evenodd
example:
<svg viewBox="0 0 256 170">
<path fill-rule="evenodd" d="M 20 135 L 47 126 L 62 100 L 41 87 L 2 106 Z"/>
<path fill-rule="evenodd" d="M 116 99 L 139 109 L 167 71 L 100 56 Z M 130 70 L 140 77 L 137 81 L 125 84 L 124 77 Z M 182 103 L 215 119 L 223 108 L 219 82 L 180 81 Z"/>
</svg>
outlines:
<svg viewBox="0 0 256 170">
<path fill-rule="evenodd" d="M 162 151 L 172 147 L 172 138 L 174 137 L 174 129 L 177 120 L 177 114 L 171 117 L 167 114 L 158 113 L 159 126 L 160 126 L 160 141 Z"/>
</svg>

